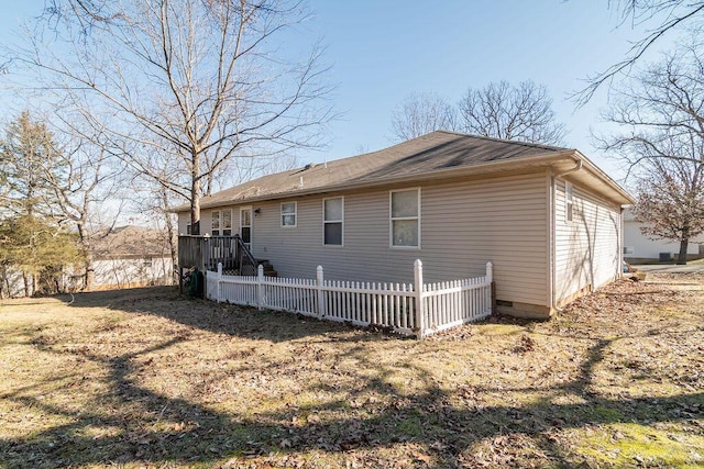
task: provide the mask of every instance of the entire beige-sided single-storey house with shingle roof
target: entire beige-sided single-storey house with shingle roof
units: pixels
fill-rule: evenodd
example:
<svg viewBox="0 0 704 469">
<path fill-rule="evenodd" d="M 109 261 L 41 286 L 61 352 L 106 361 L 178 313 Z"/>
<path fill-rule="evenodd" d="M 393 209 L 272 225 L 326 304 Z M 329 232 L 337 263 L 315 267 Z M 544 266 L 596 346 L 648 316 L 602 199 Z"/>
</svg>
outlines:
<svg viewBox="0 0 704 469">
<path fill-rule="evenodd" d="M 484 275 L 498 310 L 549 317 L 620 276 L 634 199 L 575 149 L 433 132 L 201 199 L 201 234 L 240 234 L 282 277 L 426 281 Z M 189 208 L 175 209 L 179 233 Z"/>
</svg>

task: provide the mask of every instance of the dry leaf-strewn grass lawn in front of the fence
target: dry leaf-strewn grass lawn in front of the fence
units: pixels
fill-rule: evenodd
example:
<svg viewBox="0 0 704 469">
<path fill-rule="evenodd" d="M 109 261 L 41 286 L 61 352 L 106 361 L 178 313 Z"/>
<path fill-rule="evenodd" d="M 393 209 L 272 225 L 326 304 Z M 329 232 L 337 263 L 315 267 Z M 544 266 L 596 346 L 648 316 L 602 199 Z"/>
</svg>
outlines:
<svg viewBox="0 0 704 469">
<path fill-rule="evenodd" d="M 703 467 L 704 276 L 424 342 L 179 298 L 0 302 L 0 467 Z"/>
</svg>

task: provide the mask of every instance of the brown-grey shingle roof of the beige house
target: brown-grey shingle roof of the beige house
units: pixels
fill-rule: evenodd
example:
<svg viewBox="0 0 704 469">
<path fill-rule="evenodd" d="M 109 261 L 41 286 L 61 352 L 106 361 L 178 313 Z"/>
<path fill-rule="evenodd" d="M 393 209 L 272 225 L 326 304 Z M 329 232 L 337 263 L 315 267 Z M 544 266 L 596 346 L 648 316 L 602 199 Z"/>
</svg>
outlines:
<svg viewBox="0 0 704 469">
<path fill-rule="evenodd" d="M 450 168 L 519 159 L 565 149 L 437 131 L 378 152 L 263 176 L 205 197 L 200 200 L 200 206 L 296 194 L 301 190 L 324 191 L 342 183 L 364 185 L 385 179 L 425 176 Z M 182 205 L 175 210 L 188 210 L 188 206 Z"/>
</svg>

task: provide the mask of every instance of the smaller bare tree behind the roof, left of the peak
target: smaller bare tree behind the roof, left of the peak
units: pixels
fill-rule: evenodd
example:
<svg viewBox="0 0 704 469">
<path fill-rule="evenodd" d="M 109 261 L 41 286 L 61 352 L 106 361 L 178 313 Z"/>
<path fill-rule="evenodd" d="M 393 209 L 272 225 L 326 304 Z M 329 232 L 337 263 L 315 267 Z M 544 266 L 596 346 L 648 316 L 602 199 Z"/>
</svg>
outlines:
<svg viewBox="0 0 704 469">
<path fill-rule="evenodd" d="M 411 93 L 392 114 L 392 132 L 396 141 L 407 141 L 435 131 L 453 131 L 457 111 L 433 92 Z"/>
</svg>

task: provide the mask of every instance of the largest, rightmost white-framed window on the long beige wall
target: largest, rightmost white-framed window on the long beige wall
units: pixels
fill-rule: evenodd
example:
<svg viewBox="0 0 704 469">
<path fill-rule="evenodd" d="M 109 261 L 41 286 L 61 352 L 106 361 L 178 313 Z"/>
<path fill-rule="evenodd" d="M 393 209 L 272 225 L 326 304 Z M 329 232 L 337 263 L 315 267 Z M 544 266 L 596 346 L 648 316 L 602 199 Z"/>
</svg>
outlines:
<svg viewBox="0 0 704 469">
<path fill-rule="evenodd" d="M 391 192 L 392 247 L 420 247 L 420 189 Z"/>
</svg>

